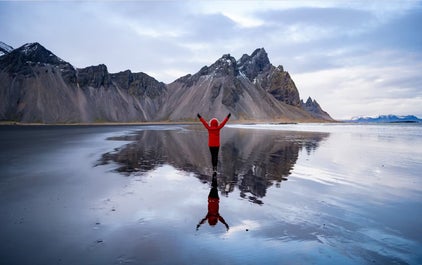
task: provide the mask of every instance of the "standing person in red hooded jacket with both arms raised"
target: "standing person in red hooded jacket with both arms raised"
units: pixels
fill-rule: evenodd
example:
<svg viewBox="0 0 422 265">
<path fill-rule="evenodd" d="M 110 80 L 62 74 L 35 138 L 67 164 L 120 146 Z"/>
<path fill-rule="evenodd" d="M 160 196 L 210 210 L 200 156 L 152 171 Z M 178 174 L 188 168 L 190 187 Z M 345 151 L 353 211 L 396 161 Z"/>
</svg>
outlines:
<svg viewBox="0 0 422 265">
<path fill-rule="evenodd" d="M 220 130 L 224 127 L 224 125 L 226 125 L 230 116 L 231 113 L 229 113 L 229 115 L 227 115 L 220 124 L 218 124 L 218 120 L 216 118 L 212 118 L 208 124 L 207 121 L 198 113 L 199 120 L 208 130 L 208 146 L 211 152 L 211 164 L 214 171 L 217 170 L 218 151 L 220 150 Z"/>
</svg>

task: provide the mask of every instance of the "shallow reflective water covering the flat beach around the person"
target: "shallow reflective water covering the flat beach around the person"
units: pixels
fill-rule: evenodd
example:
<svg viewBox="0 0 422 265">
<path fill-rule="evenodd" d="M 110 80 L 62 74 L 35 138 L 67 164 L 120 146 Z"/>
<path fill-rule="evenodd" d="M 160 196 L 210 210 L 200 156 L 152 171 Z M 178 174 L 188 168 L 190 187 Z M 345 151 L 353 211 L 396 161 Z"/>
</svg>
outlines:
<svg viewBox="0 0 422 265">
<path fill-rule="evenodd" d="M 1 264 L 422 264 L 422 127 L 0 127 Z"/>
</svg>

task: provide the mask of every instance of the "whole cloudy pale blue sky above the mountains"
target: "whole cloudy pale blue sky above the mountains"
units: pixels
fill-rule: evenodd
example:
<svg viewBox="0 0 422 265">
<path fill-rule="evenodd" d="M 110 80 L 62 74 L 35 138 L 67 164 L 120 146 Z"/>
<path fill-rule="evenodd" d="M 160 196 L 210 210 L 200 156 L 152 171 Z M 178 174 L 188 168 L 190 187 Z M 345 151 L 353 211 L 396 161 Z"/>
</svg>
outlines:
<svg viewBox="0 0 422 265">
<path fill-rule="evenodd" d="M 422 1 L 0 1 L 0 41 L 171 83 L 265 48 L 335 119 L 422 118 Z"/>
</svg>

